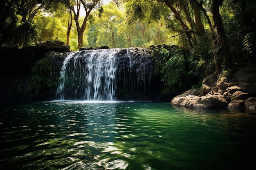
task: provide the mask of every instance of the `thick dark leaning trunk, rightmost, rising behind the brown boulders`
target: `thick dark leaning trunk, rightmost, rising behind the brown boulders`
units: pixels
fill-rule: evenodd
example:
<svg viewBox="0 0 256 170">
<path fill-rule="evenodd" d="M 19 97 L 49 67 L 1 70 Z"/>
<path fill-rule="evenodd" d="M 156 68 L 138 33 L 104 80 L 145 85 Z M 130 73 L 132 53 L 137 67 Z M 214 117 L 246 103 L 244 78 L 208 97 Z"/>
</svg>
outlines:
<svg viewBox="0 0 256 170">
<path fill-rule="evenodd" d="M 217 30 L 217 39 L 218 39 L 218 45 L 221 47 L 223 60 L 225 63 L 226 69 L 232 69 L 233 63 L 232 63 L 232 57 L 229 50 L 229 43 L 227 40 L 227 37 L 225 35 L 225 31 L 222 24 L 222 19 L 220 16 L 220 5 L 222 4 L 223 0 L 212 0 L 212 14 L 213 14 L 213 22 L 214 26 Z"/>
</svg>

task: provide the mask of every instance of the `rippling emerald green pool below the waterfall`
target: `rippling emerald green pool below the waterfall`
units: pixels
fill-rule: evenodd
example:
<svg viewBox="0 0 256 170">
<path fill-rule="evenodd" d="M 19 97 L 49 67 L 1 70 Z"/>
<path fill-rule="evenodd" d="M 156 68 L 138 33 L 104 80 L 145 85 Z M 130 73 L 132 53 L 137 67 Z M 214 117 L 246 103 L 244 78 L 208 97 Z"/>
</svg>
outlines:
<svg viewBox="0 0 256 170">
<path fill-rule="evenodd" d="M 2 104 L 0 168 L 240 170 L 256 168 L 256 114 L 168 103 Z"/>
</svg>

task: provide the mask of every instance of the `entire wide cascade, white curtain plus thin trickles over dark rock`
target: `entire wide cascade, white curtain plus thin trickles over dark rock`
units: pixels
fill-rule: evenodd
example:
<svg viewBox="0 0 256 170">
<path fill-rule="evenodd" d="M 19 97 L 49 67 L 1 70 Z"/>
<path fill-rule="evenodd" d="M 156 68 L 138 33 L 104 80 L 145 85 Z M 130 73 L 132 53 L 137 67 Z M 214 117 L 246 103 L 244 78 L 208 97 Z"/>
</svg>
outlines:
<svg viewBox="0 0 256 170">
<path fill-rule="evenodd" d="M 63 55 L 66 55 L 64 60 Z M 60 70 L 60 78 L 55 99 L 151 99 L 154 66 L 148 51 L 138 48 L 101 49 L 63 55 L 56 56 L 63 65 L 56 68 Z"/>
</svg>

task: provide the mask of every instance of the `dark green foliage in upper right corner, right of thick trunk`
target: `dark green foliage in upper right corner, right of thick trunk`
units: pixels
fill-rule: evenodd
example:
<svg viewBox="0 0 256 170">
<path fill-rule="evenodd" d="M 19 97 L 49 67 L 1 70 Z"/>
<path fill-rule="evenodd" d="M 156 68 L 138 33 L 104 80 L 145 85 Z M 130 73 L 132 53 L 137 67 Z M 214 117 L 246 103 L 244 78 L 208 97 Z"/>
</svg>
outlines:
<svg viewBox="0 0 256 170">
<path fill-rule="evenodd" d="M 255 62 L 256 1 L 225 0 L 223 4 L 220 13 L 230 43 L 233 62 L 236 66 Z"/>
</svg>

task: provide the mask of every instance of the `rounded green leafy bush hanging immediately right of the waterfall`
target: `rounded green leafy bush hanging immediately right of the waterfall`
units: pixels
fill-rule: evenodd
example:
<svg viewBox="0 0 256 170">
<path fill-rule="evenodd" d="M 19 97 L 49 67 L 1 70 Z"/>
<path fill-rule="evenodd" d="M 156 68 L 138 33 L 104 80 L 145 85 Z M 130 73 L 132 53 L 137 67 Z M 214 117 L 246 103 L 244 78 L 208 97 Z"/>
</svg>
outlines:
<svg viewBox="0 0 256 170">
<path fill-rule="evenodd" d="M 182 49 L 167 50 L 164 47 L 156 49 L 161 56 L 155 60 L 155 75 L 160 75 L 164 84 L 173 93 L 187 90 L 198 83 L 198 62 Z"/>
</svg>

